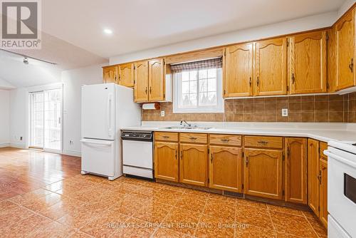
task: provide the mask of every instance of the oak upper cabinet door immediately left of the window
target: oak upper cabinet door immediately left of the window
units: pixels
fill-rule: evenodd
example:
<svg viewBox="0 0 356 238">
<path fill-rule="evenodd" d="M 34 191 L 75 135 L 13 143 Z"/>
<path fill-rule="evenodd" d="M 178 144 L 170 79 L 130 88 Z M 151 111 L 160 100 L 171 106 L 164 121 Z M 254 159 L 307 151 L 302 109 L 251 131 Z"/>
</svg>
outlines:
<svg viewBox="0 0 356 238">
<path fill-rule="evenodd" d="M 149 100 L 164 100 L 164 60 L 159 58 L 148 61 Z"/>
</svg>

